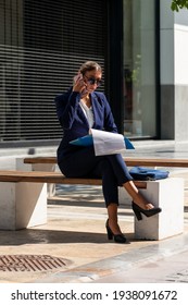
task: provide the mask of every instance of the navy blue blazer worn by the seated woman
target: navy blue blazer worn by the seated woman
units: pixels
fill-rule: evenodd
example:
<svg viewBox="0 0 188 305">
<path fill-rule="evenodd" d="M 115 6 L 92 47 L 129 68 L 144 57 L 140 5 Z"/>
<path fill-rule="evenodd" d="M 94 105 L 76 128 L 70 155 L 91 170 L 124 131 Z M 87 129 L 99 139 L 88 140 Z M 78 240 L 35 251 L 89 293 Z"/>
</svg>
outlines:
<svg viewBox="0 0 188 305">
<path fill-rule="evenodd" d="M 63 138 L 58 148 L 58 162 L 61 162 L 65 155 L 68 155 L 82 147 L 71 145 L 70 142 L 88 135 L 89 124 L 79 105 L 80 94 L 72 91 L 72 87 L 65 93 L 55 97 L 57 114 L 63 127 Z M 93 129 L 117 133 L 114 118 L 103 93 L 91 93 L 91 105 L 93 110 Z"/>
</svg>

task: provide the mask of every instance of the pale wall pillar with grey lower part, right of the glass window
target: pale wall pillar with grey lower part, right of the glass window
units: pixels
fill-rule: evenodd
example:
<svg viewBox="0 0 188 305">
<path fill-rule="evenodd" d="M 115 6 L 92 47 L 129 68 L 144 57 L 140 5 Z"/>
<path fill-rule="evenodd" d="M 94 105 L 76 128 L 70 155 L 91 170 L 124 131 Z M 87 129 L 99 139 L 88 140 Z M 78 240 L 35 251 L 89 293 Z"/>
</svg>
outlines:
<svg viewBox="0 0 188 305">
<path fill-rule="evenodd" d="M 188 138 L 188 11 L 161 0 L 161 138 Z"/>
</svg>

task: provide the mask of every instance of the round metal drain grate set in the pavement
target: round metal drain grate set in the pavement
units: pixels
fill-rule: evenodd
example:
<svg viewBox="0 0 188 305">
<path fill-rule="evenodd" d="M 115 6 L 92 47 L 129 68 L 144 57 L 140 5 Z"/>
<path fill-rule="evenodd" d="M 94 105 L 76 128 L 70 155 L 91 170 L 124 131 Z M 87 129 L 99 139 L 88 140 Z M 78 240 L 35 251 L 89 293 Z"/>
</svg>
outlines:
<svg viewBox="0 0 188 305">
<path fill-rule="evenodd" d="M 43 271 L 65 267 L 67 263 L 49 255 L 0 255 L 0 271 Z"/>
</svg>

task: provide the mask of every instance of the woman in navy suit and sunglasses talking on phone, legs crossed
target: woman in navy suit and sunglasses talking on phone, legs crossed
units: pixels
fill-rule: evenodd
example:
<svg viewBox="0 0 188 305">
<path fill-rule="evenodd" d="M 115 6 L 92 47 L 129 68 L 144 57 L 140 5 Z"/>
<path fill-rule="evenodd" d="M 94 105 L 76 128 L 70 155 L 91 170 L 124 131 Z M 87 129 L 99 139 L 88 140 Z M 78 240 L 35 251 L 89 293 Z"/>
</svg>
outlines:
<svg viewBox="0 0 188 305">
<path fill-rule="evenodd" d="M 102 69 L 93 61 L 85 62 L 74 77 L 73 86 L 55 98 L 57 113 L 63 127 L 58 148 L 58 164 L 65 176 L 102 178 L 102 191 L 108 209 L 105 223 L 109 240 L 126 243 L 117 222 L 118 186 L 133 198 L 138 220 L 161 211 L 137 190 L 121 154 L 95 156 L 92 146 L 82 147 L 70 142 L 89 134 L 89 129 L 117 133 L 117 127 L 104 94 L 95 91 L 101 84 Z"/>
</svg>

